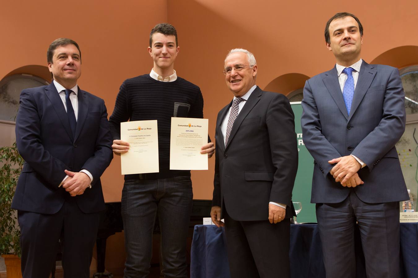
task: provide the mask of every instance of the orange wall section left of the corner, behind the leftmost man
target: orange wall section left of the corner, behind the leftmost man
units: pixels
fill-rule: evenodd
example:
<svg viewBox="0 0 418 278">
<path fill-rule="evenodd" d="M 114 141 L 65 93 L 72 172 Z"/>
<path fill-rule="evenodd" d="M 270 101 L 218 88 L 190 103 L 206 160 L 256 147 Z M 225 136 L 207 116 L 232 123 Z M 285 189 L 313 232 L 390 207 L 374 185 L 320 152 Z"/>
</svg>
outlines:
<svg viewBox="0 0 418 278">
<path fill-rule="evenodd" d="M 48 45 L 56 38 L 71 38 L 82 51 L 79 86 L 104 98 L 111 114 L 123 80 L 152 68 L 147 52 L 149 33 L 155 24 L 167 20 L 166 0 L 59 3 L 2 1 L 0 79 L 25 65 L 46 66 Z M 50 77 L 47 68 L 30 73 Z M 105 200 L 120 201 L 119 157 L 102 181 Z"/>
</svg>

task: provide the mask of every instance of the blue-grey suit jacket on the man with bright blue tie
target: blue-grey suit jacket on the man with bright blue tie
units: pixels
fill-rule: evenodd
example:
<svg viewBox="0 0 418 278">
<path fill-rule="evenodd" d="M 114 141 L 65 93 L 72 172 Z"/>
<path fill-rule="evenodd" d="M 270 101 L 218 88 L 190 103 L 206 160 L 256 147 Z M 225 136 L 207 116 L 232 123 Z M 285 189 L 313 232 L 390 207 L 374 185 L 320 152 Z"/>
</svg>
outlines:
<svg viewBox="0 0 418 278">
<path fill-rule="evenodd" d="M 355 155 L 364 185 L 353 190 L 367 203 L 408 199 L 395 143 L 405 131 L 404 92 L 399 71 L 363 61 L 347 113 L 334 67 L 306 81 L 301 118 L 303 143 L 314 157 L 312 203 L 339 203 L 351 188 L 336 183 L 328 160 Z"/>
</svg>

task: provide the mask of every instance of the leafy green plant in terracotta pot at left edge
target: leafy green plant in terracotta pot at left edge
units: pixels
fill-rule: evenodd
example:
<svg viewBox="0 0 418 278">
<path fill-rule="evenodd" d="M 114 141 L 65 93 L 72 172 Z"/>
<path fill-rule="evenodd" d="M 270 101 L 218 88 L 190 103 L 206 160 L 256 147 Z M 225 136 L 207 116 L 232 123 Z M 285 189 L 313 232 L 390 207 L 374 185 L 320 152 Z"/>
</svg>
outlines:
<svg viewBox="0 0 418 278">
<path fill-rule="evenodd" d="M 16 143 L 11 147 L 0 148 L 0 254 L 5 259 L 8 278 L 22 277 L 20 229 L 11 205 L 23 162 Z"/>
</svg>

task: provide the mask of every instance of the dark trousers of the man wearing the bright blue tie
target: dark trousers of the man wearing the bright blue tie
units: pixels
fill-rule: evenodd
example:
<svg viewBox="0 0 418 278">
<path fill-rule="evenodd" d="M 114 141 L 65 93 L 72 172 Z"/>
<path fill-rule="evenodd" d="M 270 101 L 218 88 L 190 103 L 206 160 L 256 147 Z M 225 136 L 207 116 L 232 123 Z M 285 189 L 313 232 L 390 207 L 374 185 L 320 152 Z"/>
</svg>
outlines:
<svg viewBox="0 0 418 278">
<path fill-rule="evenodd" d="M 399 202 L 364 203 L 352 190 L 341 203 L 316 204 L 316 218 L 327 278 L 356 277 L 356 225 L 367 277 L 400 277 Z"/>
</svg>

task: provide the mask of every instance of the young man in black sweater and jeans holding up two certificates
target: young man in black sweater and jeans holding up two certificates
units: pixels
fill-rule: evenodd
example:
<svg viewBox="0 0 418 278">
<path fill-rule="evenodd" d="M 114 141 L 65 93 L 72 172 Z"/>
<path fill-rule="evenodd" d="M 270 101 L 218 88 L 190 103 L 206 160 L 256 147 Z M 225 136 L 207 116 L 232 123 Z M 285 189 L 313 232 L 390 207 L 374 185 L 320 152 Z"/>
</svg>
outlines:
<svg viewBox="0 0 418 278">
<path fill-rule="evenodd" d="M 148 277 L 155 215 L 161 228 L 161 253 L 165 277 L 187 277 L 186 237 L 193 191 L 190 170 L 169 170 L 171 117 L 203 118 L 203 97 L 198 86 L 177 76 L 176 29 L 156 25 L 148 52 L 154 60 L 150 74 L 125 80 L 116 98 L 109 124 L 113 152 L 129 151 L 120 140 L 120 123 L 127 120 L 158 120 L 159 173 L 125 175 L 122 218 L 125 231 L 125 278 Z M 202 146 L 212 157 L 214 144 Z"/>
</svg>

